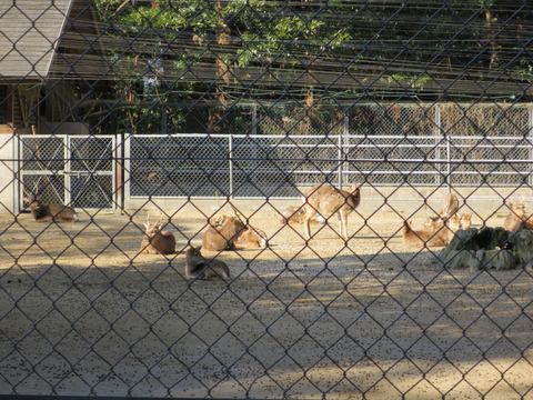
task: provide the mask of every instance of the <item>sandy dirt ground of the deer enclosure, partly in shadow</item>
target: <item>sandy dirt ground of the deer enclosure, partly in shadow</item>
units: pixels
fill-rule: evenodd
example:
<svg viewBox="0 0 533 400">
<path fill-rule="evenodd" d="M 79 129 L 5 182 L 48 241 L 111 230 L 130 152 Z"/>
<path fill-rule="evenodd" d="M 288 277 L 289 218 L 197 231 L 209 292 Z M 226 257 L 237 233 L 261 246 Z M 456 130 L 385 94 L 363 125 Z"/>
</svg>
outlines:
<svg viewBox="0 0 533 400">
<path fill-rule="evenodd" d="M 138 253 L 145 211 L 81 217 L 0 217 L 0 394 L 533 397 L 531 274 L 446 270 L 394 213 L 306 246 L 272 208 L 250 212 L 269 248 L 204 253 L 229 284 L 183 278 L 200 210 L 171 213 L 171 257 Z"/>
</svg>

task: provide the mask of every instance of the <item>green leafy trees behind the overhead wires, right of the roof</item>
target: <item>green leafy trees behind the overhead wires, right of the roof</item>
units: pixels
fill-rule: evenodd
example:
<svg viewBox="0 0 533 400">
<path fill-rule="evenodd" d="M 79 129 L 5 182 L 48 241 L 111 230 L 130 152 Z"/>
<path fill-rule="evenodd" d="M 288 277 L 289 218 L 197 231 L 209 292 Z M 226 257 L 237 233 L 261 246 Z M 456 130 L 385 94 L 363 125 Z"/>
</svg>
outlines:
<svg viewBox="0 0 533 400">
<path fill-rule="evenodd" d="M 117 58 L 117 97 L 163 102 L 177 113 L 177 103 L 199 99 L 223 109 L 232 99 L 280 96 L 394 98 L 422 96 L 430 82 L 439 88 L 450 79 L 456 84 L 447 94 L 462 97 L 476 94 L 484 79 L 495 90 L 491 73 L 513 82 L 533 78 L 517 39 L 531 27 L 527 13 L 497 0 L 94 3 L 110 23 L 107 34 L 118 38 L 107 49 Z M 144 121 L 157 111 L 125 113 Z"/>
</svg>

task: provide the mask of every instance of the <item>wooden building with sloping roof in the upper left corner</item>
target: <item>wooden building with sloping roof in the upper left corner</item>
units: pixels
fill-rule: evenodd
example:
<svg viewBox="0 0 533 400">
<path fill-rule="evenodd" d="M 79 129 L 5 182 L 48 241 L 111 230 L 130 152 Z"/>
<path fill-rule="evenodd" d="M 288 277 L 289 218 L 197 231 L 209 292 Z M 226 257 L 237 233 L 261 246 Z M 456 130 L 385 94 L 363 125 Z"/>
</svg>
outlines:
<svg viewBox="0 0 533 400">
<path fill-rule="evenodd" d="M 90 0 L 0 2 L 0 132 L 89 133 L 91 101 L 104 90 Z"/>
</svg>

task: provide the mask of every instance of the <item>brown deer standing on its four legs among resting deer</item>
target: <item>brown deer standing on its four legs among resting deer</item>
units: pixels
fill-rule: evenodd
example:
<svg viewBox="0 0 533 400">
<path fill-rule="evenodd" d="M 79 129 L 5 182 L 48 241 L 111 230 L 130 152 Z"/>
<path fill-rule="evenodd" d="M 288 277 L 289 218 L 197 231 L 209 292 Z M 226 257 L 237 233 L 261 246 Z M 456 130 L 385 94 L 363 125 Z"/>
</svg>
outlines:
<svg viewBox="0 0 533 400">
<path fill-rule="evenodd" d="M 349 190 L 331 186 L 313 187 L 302 198 L 305 208 L 304 229 L 305 238 L 311 239 L 311 219 L 316 216 L 328 220 L 334 213 L 339 218 L 339 230 L 344 240 L 348 240 L 348 214 L 355 210 L 361 202 L 361 190 L 355 184 Z"/>
</svg>

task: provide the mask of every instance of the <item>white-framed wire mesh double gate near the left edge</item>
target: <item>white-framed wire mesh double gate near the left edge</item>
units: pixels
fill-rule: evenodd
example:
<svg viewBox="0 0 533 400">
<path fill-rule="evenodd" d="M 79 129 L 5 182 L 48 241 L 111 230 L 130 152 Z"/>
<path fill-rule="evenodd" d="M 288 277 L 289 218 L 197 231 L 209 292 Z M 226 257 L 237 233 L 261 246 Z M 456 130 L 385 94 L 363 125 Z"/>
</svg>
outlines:
<svg viewBox="0 0 533 400">
<path fill-rule="evenodd" d="M 115 149 L 113 136 L 21 136 L 21 201 L 30 192 L 76 208 L 114 209 Z"/>
</svg>

